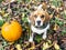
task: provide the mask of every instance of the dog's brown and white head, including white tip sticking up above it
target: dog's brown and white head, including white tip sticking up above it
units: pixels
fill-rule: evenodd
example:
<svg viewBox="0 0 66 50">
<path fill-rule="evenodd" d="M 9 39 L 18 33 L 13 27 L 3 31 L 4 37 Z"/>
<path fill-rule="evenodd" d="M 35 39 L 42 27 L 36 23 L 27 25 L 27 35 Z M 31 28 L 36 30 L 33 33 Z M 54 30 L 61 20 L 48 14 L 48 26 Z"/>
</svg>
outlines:
<svg viewBox="0 0 66 50">
<path fill-rule="evenodd" d="M 43 10 L 42 4 L 40 4 L 37 9 L 31 13 L 29 19 L 31 21 L 31 24 L 35 27 L 41 27 L 45 22 L 50 21 L 51 16 L 45 10 Z"/>
</svg>

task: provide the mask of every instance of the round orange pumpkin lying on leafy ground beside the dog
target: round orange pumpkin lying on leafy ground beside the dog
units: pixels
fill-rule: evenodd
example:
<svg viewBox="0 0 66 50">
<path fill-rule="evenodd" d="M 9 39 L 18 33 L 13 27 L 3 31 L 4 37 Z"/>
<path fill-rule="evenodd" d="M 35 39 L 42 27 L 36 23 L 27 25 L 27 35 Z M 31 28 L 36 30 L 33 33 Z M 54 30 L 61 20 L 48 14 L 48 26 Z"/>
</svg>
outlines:
<svg viewBox="0 0 66 50">
<path fill-rule="evenodd" d="M 6 22 L 1 28 L 1 33 L 7 41 L 15 41 L 22 34 L 22 27 L 18 21 Z"/>
</svg>

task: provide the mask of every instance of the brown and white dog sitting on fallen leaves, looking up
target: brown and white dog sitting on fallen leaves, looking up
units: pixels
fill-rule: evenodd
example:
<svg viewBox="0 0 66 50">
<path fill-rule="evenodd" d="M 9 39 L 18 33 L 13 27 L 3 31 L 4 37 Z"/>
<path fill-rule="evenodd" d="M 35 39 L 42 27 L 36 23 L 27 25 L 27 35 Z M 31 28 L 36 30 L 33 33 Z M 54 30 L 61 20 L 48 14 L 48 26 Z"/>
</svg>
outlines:
<svg viewBox="0 0 66 50">
<path fill-rule="evenodd" d="M 46 10 L 43 10 L 42 7 L 43 4 L 40 4 L 37 9 L 31 12 L 29 17 L 29 22 L 31 23 L 31 30 L 32 30 L 32 33 L 29 39 L 30 42 L 33 42 L 35 33 L 37 34 L 43 33 L 42 36 L 43 39 L 46 39 L 47 37 L 46 33 L 47 30 L 50 29 L 50 20 L 52 16 L 50 16 Z"/>
</svg>

